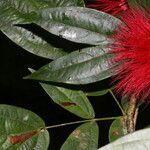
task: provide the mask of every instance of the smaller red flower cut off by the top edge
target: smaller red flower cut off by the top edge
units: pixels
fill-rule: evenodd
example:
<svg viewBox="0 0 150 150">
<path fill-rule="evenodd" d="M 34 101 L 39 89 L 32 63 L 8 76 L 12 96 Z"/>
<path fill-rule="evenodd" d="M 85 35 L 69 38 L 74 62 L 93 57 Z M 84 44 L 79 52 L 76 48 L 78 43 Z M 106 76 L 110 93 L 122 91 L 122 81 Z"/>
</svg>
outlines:
<svg viewBox="0 0 150 150">
<path fill-rule="evenodd" d="M 127 0 L 92 0 L 86 5 L 88 8 L 97 9 L 116 16 L 128 9 Z"/>
</svg>

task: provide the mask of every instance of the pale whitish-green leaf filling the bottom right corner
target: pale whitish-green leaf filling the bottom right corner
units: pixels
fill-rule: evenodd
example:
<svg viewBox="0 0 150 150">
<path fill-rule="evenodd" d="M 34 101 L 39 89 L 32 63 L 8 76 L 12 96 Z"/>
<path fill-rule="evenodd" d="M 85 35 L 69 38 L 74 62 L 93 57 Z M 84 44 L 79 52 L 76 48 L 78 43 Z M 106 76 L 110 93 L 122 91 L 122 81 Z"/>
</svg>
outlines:
<svg viewBox="0 0 150 150">
<path fill-rule="evenodd" d="M 148 150 L 150 148 L 150 129 L 128 134 L 99 150 Z"/>
</svg>

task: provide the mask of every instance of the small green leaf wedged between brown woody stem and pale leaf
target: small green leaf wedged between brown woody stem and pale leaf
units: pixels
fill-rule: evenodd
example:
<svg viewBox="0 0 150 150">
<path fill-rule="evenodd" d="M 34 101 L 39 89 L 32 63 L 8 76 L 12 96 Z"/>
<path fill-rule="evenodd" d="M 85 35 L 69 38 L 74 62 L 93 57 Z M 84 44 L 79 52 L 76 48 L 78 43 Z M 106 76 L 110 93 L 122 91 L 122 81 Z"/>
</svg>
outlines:
<svg viewBox="0 0 150 150">
<path fill-rule="evenodd" d="M 114 120 L 109 129 L 109 141 L 113 142 L 125 134 L 126 131 L 123 127 L 123 118 L 120 117 L 119 119 Z"/>
</svg>

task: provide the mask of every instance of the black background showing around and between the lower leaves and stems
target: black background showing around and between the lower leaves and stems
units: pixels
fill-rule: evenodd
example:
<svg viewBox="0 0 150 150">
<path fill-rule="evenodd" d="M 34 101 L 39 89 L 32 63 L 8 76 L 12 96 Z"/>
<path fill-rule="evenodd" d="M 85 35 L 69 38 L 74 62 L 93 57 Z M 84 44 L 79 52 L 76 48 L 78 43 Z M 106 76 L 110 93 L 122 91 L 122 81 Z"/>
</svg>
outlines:
<svg viewBox="0 0 150 150">
<path fill-rule="evenodd" d="M 23 76 L 29 74 L 27 68 L 38 69 L 48 62 L 48 59 L 40 58 L 23 50 L 0 32 L 0 103 L 29 109 L 43 118 L 47 126 L 81 120 L 53 103 L 36 81 L 22 79 Z M 89 99 L 97 118 L 121 115 L 109 94 Z M 140 110 L 138 129 L 150 124 L 149 107 L 142 106 Z M 99 146 L 108 143 L 108 129 L 111 122 L 98 122 Z M 77 126 L 50 129 L 49 149 L 59 150 L 65 139 Z"/>
</svg>

